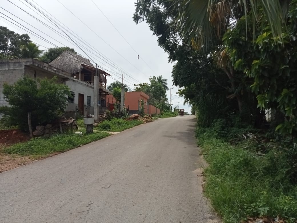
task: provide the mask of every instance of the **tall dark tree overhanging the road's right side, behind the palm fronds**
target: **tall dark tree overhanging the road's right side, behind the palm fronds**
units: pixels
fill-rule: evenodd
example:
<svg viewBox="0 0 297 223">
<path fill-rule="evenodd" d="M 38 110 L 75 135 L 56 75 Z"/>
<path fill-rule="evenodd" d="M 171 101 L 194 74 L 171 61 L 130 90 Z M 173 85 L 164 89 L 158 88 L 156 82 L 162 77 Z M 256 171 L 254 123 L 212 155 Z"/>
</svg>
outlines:
<svg viewBox="0 0 297 223">
<path fill-rule="evenodd" d="M 140 0 L 136 3 L 133 19 L 136 23 L 144 20 L 149 23 L 159 45 L 168 53 L 169 62 L 176 63 L 172 71 L 173 84 L 184 87 L 180 95 L 187 102 L 199 107 L 200 115 L 205 115 L 205 125 L 211 125 L 218 115 L 224 117 L 227 108 L 230 109 L 229 114 L 248 109 L 248 117 L 251 117 L 257 111 L 253 111 L 256 104 L 255 95 L 249 89 L 250 78 L 242 72 L 234 71 L 230 59 L 223 53 L 221 57 L 217 56 L 222 48 L 220 38 L 207 38 L 208 42 L 200 48 L 187 47 L 187 36 L 177 31 L 179 27 L 176 15 L 184 7 L 186 6 L 172 7 L 172 1 L 166 0 Z M 237 19 L 238 15 L 234 15 Z M 211 32 L 215 32 L 215 27 L 212 27 Z M 223 61 L 224 65 L 218 66 L 219 61 Z M 209 103 L 210 101 L 216 103 Z M 214 112 L 214 109 L 223 113 Z"/>
</svg>

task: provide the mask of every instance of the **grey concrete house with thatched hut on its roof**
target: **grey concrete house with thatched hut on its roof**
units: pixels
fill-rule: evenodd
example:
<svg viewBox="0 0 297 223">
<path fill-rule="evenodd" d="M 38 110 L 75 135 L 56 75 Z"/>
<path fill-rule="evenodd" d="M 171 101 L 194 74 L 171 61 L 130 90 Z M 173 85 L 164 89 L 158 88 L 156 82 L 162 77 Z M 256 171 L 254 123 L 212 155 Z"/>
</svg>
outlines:
<svg viewBox="0 0 297 223">
<path fill-rule="evenodd" d="M 96 67 L 88 59 L 69 51 L 49 65 L 32 58 L 0 60 L 0 106 L 7 105 L 2 94 L 4 83 L 13 84 L 23 76 L 33 79 L 57 76 L 58 82 L 66 84 L 73 96 L 68 98 L 66 110 L 79 110 L 84 116 L 94 114 L 97 120 L 98 114 L 106 110 L 106 95 L 111 94 L 106 89 L 106 76 L 110 74 L 98 68 L 97 73 L 95 76 Z"/>
</svg>

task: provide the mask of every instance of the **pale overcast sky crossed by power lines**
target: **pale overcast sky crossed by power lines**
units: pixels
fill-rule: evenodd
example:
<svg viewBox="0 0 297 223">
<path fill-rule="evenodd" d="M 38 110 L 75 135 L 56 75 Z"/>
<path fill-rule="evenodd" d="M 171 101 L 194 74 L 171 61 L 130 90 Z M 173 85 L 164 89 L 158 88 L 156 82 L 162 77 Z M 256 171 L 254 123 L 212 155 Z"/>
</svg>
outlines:
<svg viewBox="0 0 297 223">
<path fill-rule="evenodd" d="M 25 26 L 31 31 L 25 31 L 2 17 L 0 17 L 1 26 L 6 26 L 8 29 L 20 34 L 28 33 L 31 40 L 40 45 L 41 49 L 56 46 L 69 46 L 74 48 L 80 55 L 90 59 L 93 64 L 96 62 L 103 70 L 112 74 L 114 79 L 121 81 L 121 74 L 124 73 L 125 84 L 132 89 L 133 84 L 149 82 L 148 78 L 150 76 L 162 75 L 164 78 L 168 79 L 168 87 L 173 87 L 171 90 L 173 107 L 179 102 L 179 108 L 184 108 L 187 112 L 190 112 L 189 106 L 183 106 L 184 99 L 179 98 L 176 94 L 178 88 L 173 86 L 171 77 L 173 64 L 168 63 L 168 55 L 158 46 L 157 37 L 153 36 L 147 23 L 142 22 L 136 25 L 132 20 L 135 10 L 135 0 L 93 0 L 132 47 L 129 46 L 108 19 L 105 18 L 92 0 L 26 0 L 41 10 L 45 9 L 59 22 L 70 29 L 71 34 L 75 37 L 69 34 L 65 29 L 62 29 L 65 32 L 63 33 L 61 29 L 53 23 L 50 23 L 49 20 L 42 18 L 42 16 L 39 15 L 40 12 L 37 12 L 33 6 L 29 6 L 29 3 L 25 0 L 9 1 L 1 0 L 1 7 L 8 12 L 0 8 L 0 12 L 4 14 L 0 13 L 0 16 L 22 28 Z M 68 10 L 62 4 L 67 7 Z M 75 43 L 82 45 L 80 48 L 82 48 L 84 52 L 72 42 L 72 40 L 69 40 L 68 37 L 61 37 L 61 34 L 55 33 L 45 24 L 31 17 L 31 15 L 66 37 L 67 35 L 71 37 Z M 23 21 L 15 16 L 18 16 Z M 90 29 L 87 26 L 89 26 Z M 32 32 L 32 34 L 30 32 Z M 41 39 L 41 37 L 43 39 Z M 77 38 L 81 38 L 83 42 Z M 108 78 L 108 83 L 115 81 L 114 79 Z M 170 100 L 170 91 L 167 92 L 167 95 Z"/>
</svg>

